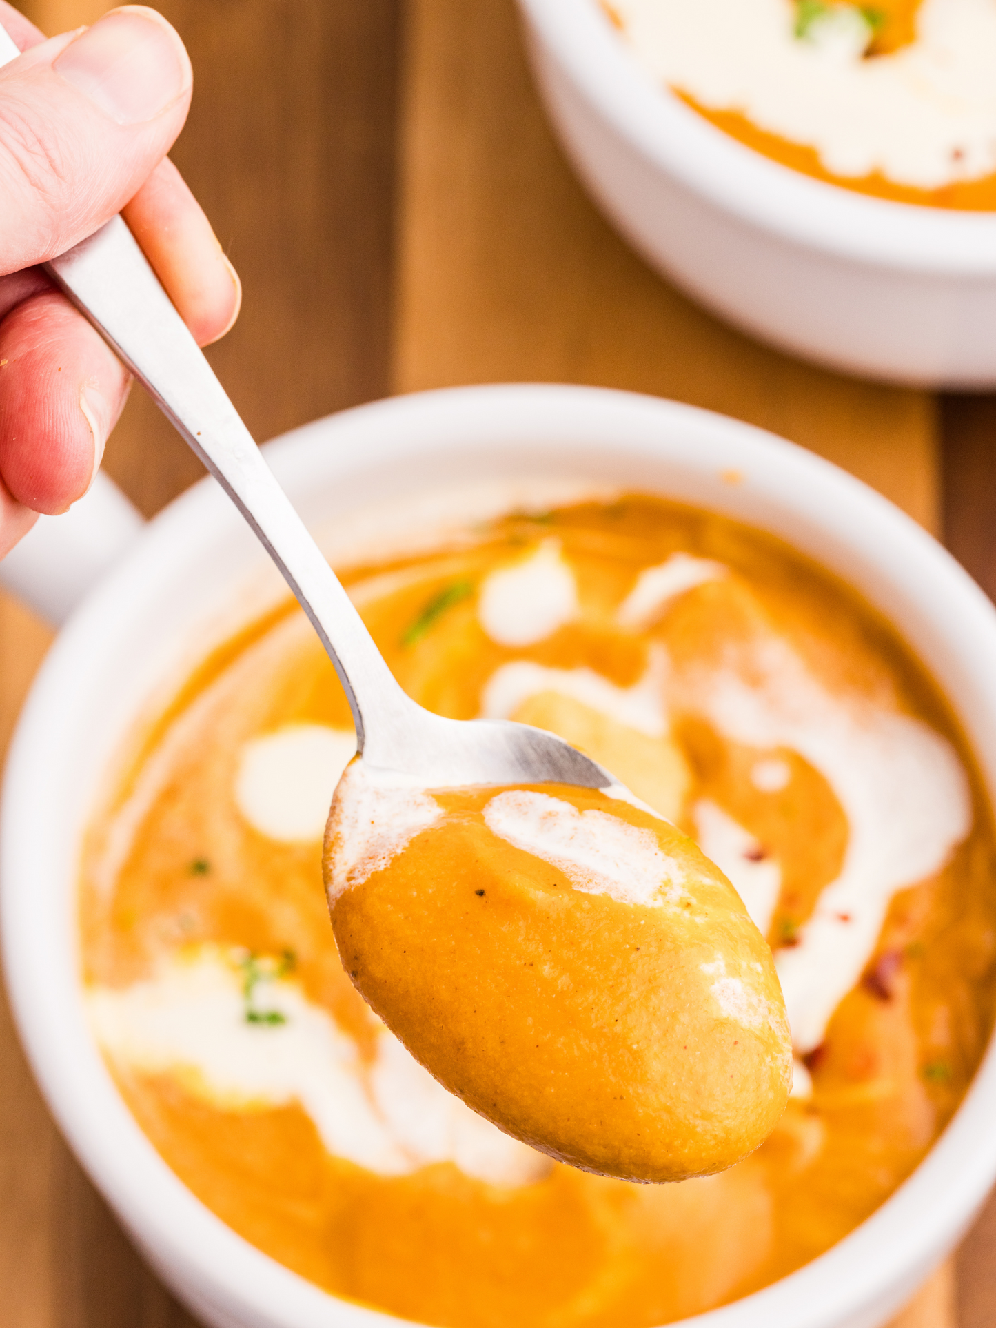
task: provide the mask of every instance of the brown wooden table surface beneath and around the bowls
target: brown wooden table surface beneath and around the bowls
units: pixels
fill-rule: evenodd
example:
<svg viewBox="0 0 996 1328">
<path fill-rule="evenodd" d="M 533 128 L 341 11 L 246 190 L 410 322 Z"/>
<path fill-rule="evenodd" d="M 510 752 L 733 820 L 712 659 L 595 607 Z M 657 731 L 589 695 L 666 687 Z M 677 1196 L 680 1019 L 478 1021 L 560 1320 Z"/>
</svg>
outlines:
<svg viewBox="0 0 996 1328">
<path fill-rule="evenodd" d="M 104 0 L 31 0 L 46 32 Z M 163 0 L 195 94 L 173 153 L 244 284 L 208 353 L 258 438 L 385 396 L 559 380 L 764 425 L 880 489 L 996 596 L 996 397 L 801 364 L 656 278 L 583 195 L 513 0 Z M 147 515 L 201 474 L 134 392 L 108 471 Z M 50 640 L 0 598 L 0 744 Z M 54 1130 L 0 997 L 0 1323 L 191 1328 Z M 895 1328 L 996 1324 L 996 1203 Z"/>
</svg>

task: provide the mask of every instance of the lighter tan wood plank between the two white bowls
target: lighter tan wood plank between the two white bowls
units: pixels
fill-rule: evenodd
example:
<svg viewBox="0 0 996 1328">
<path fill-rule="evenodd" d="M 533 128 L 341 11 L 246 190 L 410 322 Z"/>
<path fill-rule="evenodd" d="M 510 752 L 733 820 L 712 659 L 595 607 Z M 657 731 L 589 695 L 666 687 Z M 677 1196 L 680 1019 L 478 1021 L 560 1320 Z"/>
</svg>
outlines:
<svg viewBox="0 0 996 1328">
<path fill-rule="evenodd" d="M 773 429 L 936 529 L 935 405 L 770 351 L 655 276 L 547 129 L 513 0 L 412 0 L 394 388 L 550 380 Z"/>
</svg>

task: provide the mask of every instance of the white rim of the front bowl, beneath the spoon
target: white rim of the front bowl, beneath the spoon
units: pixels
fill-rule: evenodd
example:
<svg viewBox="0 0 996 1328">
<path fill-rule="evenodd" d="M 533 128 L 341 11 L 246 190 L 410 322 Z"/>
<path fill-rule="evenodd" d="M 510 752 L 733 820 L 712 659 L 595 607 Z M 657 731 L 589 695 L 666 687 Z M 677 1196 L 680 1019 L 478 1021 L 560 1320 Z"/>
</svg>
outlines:
<svg viewBox="0 0 996 1328">
<path fill-rule="evenodd" d="M 684 440 L 680 446 L 676 434 Z M 323 448 L 329 452 L 331 442 L 337 444 L 340 456 L 332 462 L 335 473 L 364 473 L 373 463 L 377 438 L 390 456 L 392 445 L 382 442 L 386 436 L 421 438 L 429 445 L 445 438 L 470 454 L 495 438 L 551 445 L 559 440 L 564 456 L 578 438 L 603 456 L 620 441 L 635 457 L 660 459 L 671 448 L 683 452 L 689 469 L 708 471 L 713 485 L 733 463 L 746 478 L 730 482 L 732 495 L 754 485 L 827 529 L 833 522 L 839 525 L 843 513 L 850 543 L 872 566 L 875 558 L 888 556 L 895 582 L 928 602 L 939 632 L 947 627 L 952 640 L 960 633 L 963 653 L 996 653 L 996 610 L 920 526 L 830 462 L 741 421 L 598 388 L 457 388 L 396 397 L 305 425 L 270 444 L 267 459 L 292 493 L 303 491 L 316 458 Z M 408 444 L 405 450 L 410 450 Z M 171 568 L 178 539 L 195 539 L 198 531 L 207 539 L 206 531 L 226 522 L 242 530 L 240 518 L 210 478 L 170 503 L 73 615 L 32 687 L 12 741 L 0 807 L 0 922 L 8 992 L 32 1069 L 62 1133 L 151 1262 L 174 1283 L 181 1280 L 181 1293 L 202 1312 L 214 1307 L 220 1313 L 222 1307 L 228 1317 L 219 1321 L 254 1328 L 328 1328 L 332 1323 L 339 1328 L 397 1328 L 401 1320 L 321 1291 L 207 1210 L 125 1108 L 82 1017 L 74 963 L 74 871 L 66 866 L 62 876 L 70 879 L 53 879 L 60 875 L 60 859 L 44 810 L 54 769 L 52 742 L 57 749 L 68 741 L 64 734 L 86 703 L 101 651 L 113 647 L 116 631 L 125 631 L 122 624 L 137 596 L 154 595 L 157 579 L 162 586 L 175 580 Z M 956 647 L 950 648 L 957 655 Z M 975 657 L 967 667 L 988 685 Z M 996 734 L 996 684 L 989 689 Z M 983 753 L 976 750 L 976 757 L 983 765 Z M 996 750 L 991 764 L 996 772 Z M 992 798 L 996 776 L 988 782 Z M 689 1328 L 770 1328 L 773 1323 L 830 1328 L 858 1307 L 867 1312 L 890 1288 L 895 1293 L 895 1287 L 906 1287 L 918 1274 L 926 1276 L 942 1246 L 954 1242 L 971 1220 L 996 1175 L 995 1102 L 996 1040 L 991 1040 L 947 1129 L 912 1175 L 865 1223 L 788 1278 L 681 1323 Z M 235 1313 L 238 1319 L 231 1317 Z"/>
</svg>

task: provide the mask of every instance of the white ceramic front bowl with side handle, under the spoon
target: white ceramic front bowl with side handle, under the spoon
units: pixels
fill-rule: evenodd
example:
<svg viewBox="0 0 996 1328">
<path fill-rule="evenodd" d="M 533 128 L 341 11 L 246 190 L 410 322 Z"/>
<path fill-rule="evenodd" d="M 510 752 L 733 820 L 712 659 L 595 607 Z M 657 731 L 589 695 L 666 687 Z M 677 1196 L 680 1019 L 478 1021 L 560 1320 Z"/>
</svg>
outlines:
<svg viewBox="0 0 996 1328">
<path fill-rule="evenodd" d="M 758 429 L 591 388 L 462 388 L 320 420 L 267 449 L 315 527 L 384 499 L 515 475 L 641 489 L 756 523 L 861 590 L 950 696 L 996 788 L 996 612 L 919 526 L 857 479 Z M 112 752 L 150 695 L 248 611 L 264 555 L 214 482 L 138 537 L 48 656 L 3 794 L 4 964 L 37 1080 L 151 1266 L 212 1328 L 373 1328 L 259 1254 L 173 1175 L 92 1042 L 74 923 L 81 830 Z M 191 649 L 194 655 L 191 656 Z M 857 1231 L 697 1328 L 872 1328 L 951 1248 L 996 1177 L 996 1057 L 916 1173 Z"/>
</svg>

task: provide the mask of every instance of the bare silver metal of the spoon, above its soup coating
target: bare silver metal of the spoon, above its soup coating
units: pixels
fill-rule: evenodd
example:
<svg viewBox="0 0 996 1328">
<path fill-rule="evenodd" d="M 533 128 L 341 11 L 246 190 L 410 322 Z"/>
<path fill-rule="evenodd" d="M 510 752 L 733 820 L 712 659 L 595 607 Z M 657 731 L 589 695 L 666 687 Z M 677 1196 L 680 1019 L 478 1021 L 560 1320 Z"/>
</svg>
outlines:
<svg viewBox="0 0 996 1328">
<path fill-rule="evenodd" d="M 0 66 L 19 54 L 0 27 Z M 45 271 L 263 542 L 336 667 L 368 765 L 426 788 L 546 781 L 618 788 L 607 770 L 550 733 L 505 720 L 441 718 L 405 695 L 121 216 Z"/>
</svg>

